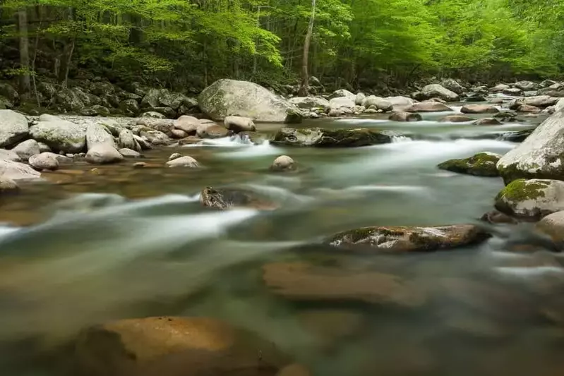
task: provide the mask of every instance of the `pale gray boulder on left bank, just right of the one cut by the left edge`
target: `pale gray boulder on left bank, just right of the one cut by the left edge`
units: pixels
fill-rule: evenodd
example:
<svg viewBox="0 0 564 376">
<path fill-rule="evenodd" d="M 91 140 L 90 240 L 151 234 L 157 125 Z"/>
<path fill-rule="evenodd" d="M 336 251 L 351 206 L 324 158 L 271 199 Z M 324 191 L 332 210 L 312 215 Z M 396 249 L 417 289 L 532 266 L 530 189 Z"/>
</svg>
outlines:
<svg viewBox="0 0 564 376">
<path fill-rule="evenodd" d="M 86 126 L 71 123 L 57 116 L 44 114 L 39 122 L 30 127 L 33 139 L 66 153 L 82 152 L 86 146 Z"/>
</svg>

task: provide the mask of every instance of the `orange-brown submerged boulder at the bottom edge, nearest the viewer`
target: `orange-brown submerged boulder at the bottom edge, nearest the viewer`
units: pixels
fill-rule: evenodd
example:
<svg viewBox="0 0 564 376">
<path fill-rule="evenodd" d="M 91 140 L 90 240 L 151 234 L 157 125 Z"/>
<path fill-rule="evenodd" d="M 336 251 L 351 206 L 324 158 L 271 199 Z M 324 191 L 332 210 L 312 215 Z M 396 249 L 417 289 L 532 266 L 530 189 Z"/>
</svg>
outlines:
<svg viewBox="0 0 564 376">
<path fill-rule="evenodd" d="M 88 327 L 76 375 L 275 376 L 292 360 L 254 333 L 208 317 L 146 317 Z"/>
</svg>

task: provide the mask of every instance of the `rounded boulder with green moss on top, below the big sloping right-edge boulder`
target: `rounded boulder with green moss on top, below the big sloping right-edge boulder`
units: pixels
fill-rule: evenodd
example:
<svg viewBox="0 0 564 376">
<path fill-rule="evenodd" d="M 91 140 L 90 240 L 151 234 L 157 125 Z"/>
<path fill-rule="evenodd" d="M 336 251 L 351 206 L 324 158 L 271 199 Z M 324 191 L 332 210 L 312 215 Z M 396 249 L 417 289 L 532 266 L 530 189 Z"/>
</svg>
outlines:
<svg viewBox="0 0 564 376">
<path fill-rule="evenodd" d="M 564 210 L 564 181 L 517 179 L 496 197 L 496 209 L 514 217 L 540 219 Z"/>
</svg>

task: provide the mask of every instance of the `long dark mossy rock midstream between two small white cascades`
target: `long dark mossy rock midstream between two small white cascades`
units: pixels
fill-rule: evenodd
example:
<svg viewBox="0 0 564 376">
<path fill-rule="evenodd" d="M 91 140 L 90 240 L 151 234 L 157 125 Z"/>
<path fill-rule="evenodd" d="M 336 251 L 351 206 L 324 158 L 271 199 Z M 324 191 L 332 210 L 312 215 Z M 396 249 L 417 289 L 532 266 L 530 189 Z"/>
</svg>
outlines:
<svg viewBox="0 0 564 376">
<path fill-rule="evenodd" d="M 390 135 L 368 128 L 280 128 L 273 144 L 315 147 L 357 147 L 391 142 Z"/>
</svg>

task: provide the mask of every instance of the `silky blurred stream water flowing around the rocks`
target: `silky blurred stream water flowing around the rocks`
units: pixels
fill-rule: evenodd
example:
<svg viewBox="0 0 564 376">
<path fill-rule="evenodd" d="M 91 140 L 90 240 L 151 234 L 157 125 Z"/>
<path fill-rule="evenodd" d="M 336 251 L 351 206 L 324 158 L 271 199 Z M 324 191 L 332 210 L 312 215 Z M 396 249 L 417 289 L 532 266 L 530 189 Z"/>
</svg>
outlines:
<svg viewBox="0 0 564 376">
<path fill-rule="evenodd" d="M 336 231 L 472 223 L 492 209 L 500 178 L 436 165 L 505 153 L 516 144 L 496 134 L 531 123 L 478 127 L 438 122 L 443 115 L 304 124 L 388 129 L 398 136 L 387 145 L 330 150 L 226 138 L 153 150 L 145 169 L 76 164 L 44 174 L 50 183 L 24 186 L 1 202 L 1 375 L 59 375 L 44 354 L 81 328 L 150 315 L 227 320 L 274 341 L 315 375 L 560 375 L 564 274 L 557 256 L 510 253 L 503 238 L 400 256 L 320 245 Z M 162 168 L 172 152 L 205 167 Z M 299 171 L 271 174 L 280 154 L 292 156 Z M 198 202 L 206 186 L 256 190 L 280 209 L 206 210 Z M 272 262 L 392 274 L 438 293 L 415 309 L 292 302 L 265 286 L 262 267 Z M 328 278 L 325 289 L 331 284 Z"/>
</svg>

